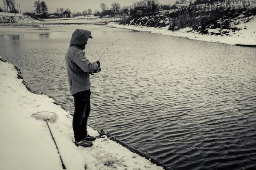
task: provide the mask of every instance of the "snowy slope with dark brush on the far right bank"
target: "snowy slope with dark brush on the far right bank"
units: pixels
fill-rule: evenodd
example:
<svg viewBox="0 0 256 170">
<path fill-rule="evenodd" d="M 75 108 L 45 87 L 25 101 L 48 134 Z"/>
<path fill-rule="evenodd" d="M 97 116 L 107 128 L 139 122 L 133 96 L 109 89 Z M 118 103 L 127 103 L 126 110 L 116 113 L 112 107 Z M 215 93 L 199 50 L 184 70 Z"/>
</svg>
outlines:
<svg viewBox="0 0 256 170">
<path fill-rule="evenodd" d="M 116 27 L 194 40 L 256 46 L 256 3 L 253 0 L 209 1 L 160 11 L 150 16 L 135 13 L 129 20 Z"/>
</svg>

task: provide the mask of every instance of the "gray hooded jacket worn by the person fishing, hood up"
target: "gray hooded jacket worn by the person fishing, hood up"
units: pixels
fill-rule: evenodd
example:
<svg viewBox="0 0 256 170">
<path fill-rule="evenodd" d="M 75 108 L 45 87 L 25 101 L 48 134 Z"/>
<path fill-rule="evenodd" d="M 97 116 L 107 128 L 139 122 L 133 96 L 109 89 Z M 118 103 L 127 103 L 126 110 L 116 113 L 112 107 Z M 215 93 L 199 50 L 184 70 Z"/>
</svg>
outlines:
<svg viewBox="0 0 256 170">
<path fill-rule="evenodd" d="M 98 67 L 96 62 L 89 62 L 84 56 L 84 48 L 91 32 L 83 29 L 76 29 L 73 32 L 70 47 L 66 54 L 67 81 L 70 94 L 76 94 L 90 89 L 90 74 Z"/>
</svg>

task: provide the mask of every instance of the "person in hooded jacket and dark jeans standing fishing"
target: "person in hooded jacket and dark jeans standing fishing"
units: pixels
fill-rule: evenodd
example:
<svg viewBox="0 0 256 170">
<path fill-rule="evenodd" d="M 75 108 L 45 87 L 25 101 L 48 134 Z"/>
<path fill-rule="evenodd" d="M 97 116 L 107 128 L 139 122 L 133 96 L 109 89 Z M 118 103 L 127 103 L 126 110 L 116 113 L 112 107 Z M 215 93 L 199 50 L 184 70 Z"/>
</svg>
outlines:
<svg viewBox="0 0 256 170">
<path fill-rule="evenodd" d="M 87 134 L 87 119 L 90 114 L 90 73 L 100 71 L 100 62 L 89 62 L 83 50 L 91 32 L 76 29 L 66 54 L 67 80 L 70 94 L 74 97 L 75 112 L 73 131 L 77 146 L 91 147 L 96 137 Z"/>
</svg>

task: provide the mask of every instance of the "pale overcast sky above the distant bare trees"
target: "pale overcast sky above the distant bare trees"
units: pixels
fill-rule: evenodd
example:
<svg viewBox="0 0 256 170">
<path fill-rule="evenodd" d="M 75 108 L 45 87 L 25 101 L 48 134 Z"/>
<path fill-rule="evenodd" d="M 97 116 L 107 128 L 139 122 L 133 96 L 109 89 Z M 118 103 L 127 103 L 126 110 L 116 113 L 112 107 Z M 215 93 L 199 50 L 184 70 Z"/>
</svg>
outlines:
<svg viewBox="0 0 256 170">
<path fill-rule="evenodd" d="M 42 1 L 42 0 L 41 0 Z M 121 7 L 123 6 L 131 6 L 134 2 L 140 0 L 44 0 L 46 3 L 48 10 L 50 13 L 56 11 L 56 8 L 69 8 L 71 12 L 82 12 L 91 8 L 94 12 L 96 9 L 100 11 L 99 5 L 100 3 L 105 3 L 108 8 L 111 8 L 112 3 L 119 3 Z M 160 4 L 174 4 L 175 0 L 158 0 Z M 20 4 L 21 12 L 24 11 L 32 11 L 35 8 L 34 6 L 35 0 L 16 0 L 16 3 Z M 0 5 L 3 7 L 3 1 L 0 0 Z"/>
</svg>

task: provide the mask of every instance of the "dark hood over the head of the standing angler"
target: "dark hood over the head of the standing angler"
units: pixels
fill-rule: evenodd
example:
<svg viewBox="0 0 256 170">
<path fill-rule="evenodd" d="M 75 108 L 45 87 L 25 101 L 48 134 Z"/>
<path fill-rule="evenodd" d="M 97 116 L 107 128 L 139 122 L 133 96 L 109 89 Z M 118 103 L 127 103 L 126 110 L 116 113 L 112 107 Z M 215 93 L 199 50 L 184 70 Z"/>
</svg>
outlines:
<svg viewBox="0 0 256 170">
<path fill-rule="evenodd" d="M 84 29 L 76 29 L 71 37 L 70 46 L 76 46 L 81 50 L 84 50 L 87 44 L 88 38 L 91 36 L 91 31 Z"/>
</svg>

